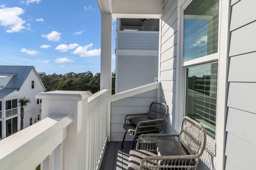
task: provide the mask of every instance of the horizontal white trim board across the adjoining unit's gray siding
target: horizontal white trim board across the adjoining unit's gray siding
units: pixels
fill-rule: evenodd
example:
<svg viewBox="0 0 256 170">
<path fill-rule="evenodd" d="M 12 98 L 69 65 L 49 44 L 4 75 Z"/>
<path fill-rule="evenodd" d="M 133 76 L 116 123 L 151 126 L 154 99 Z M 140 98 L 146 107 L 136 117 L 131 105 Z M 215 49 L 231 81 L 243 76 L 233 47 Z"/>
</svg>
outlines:
<svg viewBox="0 0 256 170">
<path fill-rule="evenodd" d="M 158 56 L 157 49 L 116 49 L 116 55 Z"/>
</svg>

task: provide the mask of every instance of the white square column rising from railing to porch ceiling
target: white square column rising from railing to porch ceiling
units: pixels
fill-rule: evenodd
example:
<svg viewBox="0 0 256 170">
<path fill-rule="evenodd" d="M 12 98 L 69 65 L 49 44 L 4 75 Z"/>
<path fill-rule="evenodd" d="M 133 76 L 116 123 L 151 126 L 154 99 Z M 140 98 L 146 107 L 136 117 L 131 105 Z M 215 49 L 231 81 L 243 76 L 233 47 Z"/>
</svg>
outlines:
<svg viewBox="0 0 256 170">
<path fill-rule="evenodd" d="M 101 60 L 100 90 L 108 89 L 111 94 L 112 15 L 101 14 Z"/>
</svg>

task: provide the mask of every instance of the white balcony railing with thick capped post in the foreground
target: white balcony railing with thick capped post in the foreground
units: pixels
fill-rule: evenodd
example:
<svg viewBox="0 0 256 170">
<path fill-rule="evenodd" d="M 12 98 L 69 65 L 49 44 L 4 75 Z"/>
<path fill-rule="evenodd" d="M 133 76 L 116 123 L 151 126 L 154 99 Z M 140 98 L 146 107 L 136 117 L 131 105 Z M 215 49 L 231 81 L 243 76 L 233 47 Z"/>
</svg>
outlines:
<svg viewBox="0 0 256 170">
<path fill-rule="evenodd" d="M 0 141 L 0 169 L 99 169 L 110 131 L 110 93 L 52 91 L 42 121 Z"/>
</svg>

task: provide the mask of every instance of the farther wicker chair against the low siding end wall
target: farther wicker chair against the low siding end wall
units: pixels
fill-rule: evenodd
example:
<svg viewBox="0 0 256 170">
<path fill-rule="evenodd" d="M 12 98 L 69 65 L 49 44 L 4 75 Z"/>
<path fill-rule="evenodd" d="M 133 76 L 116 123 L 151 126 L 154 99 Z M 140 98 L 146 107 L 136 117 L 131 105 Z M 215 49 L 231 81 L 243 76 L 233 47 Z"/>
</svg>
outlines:
<svg viewBox="0 0 256 170">
<path fill-rule="evenodd" d="M 151 103 L 149 113 L 129 114 L 124 120 L 124 137 L 121 148 L 123 149 L 125 135 L 128 132 L 133 138 L 133 145 L 140 134 L 159 133 L 162 130 L 163 121 L 169 112 L 168 106 L 162 103 Z"/>
</svg>

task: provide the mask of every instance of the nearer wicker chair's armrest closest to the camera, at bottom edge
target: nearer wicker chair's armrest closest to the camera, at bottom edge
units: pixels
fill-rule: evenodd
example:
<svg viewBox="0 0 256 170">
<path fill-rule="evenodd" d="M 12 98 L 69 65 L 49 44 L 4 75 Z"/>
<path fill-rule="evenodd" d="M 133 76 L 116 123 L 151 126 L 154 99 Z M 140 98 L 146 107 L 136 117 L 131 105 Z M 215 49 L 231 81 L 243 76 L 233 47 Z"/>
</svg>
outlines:
<svg viewBox="0 0 256 170">
<path fill-rule="evenodd" d="M 179 168 L 189 169 L 197 166 L 198 155 L 149 156 L 141 160 L 140 169 Z"/>
</svg>

